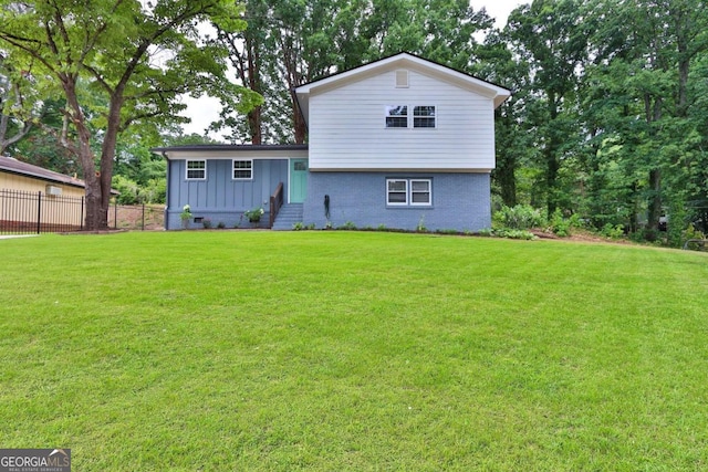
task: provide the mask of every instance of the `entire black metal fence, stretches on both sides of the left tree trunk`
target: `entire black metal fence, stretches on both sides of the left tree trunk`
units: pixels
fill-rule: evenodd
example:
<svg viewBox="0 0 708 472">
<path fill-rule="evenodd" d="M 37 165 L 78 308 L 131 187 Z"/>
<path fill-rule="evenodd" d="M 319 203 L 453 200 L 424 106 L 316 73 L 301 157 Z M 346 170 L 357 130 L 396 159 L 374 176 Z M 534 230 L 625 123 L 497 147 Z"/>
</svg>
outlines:
<svg viewBox="0 0 708 472">
<path fill-rule="evenodd" d="M 108 227 L 124 230 L 163 229 L 165 207 L 112 204 Z M 0 234 L 55 233 L 84 228 L 83 197 L 0 189 Z"/>
</svg>

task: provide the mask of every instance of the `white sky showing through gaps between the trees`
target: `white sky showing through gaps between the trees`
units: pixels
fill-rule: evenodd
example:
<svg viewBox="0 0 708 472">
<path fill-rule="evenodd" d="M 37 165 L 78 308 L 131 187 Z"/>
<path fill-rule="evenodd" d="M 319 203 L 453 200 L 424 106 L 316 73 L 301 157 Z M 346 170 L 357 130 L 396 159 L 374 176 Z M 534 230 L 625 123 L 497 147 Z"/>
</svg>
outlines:
<svg viewBox="0 0 708 472">
<path fill-rule="evenodd" d="M 487 14 L 497 21 L 497 28 L 502 28 L 507 24 L 507 18 L 509 13 L 517 7 L 530 3 L 531 0 L 470 0 L 472 8 L 478 11 L 485 8 Z M 219 101 L 217 98 L 202 96 L 201 98 L 185 97 L 185 104 L 187 109 L 184 112 L 185 116 L 191 117 L 191 123 L 183 125 L 185 134 L 196 133 L 198 135 L 204 134 L 205 129 L 219 117 Z M 214 136 L 218 138 L 218 136 Z"/>
</svg>

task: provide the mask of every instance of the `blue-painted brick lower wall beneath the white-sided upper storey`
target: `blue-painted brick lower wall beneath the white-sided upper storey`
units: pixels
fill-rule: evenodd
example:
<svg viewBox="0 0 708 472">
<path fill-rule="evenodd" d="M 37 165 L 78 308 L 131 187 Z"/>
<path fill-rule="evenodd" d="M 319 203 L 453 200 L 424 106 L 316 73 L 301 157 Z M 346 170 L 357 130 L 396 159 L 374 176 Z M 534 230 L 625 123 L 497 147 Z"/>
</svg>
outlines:
<svg viewBox="0 0 708 472">
<path fill-rule="evenodd" d="M 433 180 L 431 207 L 388 207 L 387 178 Z M 303 223 L 326 224 L 324 196 L 330 196 L 334 227 L 351 221 L 357 228 L 479 231 L 491 227 L 489 174 L 310 172 Z"/>
</svg>

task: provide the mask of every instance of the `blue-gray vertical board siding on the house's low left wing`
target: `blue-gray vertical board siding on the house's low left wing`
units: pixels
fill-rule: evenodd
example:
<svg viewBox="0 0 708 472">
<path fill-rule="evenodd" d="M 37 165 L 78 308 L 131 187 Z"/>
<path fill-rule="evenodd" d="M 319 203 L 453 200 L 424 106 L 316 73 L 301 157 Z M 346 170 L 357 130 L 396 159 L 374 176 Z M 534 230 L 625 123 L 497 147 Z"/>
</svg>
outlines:
<svg viewBox="0 0 708 472">
<path fill-rule="evenodd" d="M 186 160 L 168 161 L 168 187 L 166 229 L 181 228 L 179 213 L 189 204 L 195 218 L 209 218 L 212 224 L 222 221 L 233 228 L 243 211 L 262 207 L 266 210 L 261 225 L 267 225 L 270 196 L 279 182 L 283 182 L 285 198 L 288 192 L 287 159 L 254 159 L 253 180 L 233 180 L 231 159 L 207 159 L 207 179 L 187 180 Z M 201 224 L 191 224 L 200 228 Z M 241 227 L 248 227 L 242 223 Z"/>
</svg>

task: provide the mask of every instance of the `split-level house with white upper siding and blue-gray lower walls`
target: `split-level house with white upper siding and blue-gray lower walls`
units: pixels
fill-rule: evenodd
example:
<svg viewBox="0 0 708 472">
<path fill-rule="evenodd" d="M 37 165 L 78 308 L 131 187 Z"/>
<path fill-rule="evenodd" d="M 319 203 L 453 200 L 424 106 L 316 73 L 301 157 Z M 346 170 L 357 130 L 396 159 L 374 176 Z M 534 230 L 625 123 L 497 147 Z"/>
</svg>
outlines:
<svg viewBox="0 0 708 472">
<path fill-rule="evenodd" d="M 209 218 L 229 227 L 248 224 L 242 214 L 252 208 L 263 208 L 268 223 L 260 224 L 273 221 L 274 229 L 293 221 L 406 230 L 491 225 L 493 118 L 508 90 L 400 53 L 295 94 L 306 146 L 154 149 L 168 160 L 167 229 L 180 228 L 185 204 L 194 222 Z"/>
</svg>

